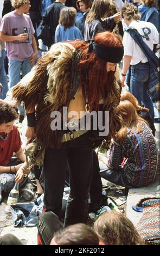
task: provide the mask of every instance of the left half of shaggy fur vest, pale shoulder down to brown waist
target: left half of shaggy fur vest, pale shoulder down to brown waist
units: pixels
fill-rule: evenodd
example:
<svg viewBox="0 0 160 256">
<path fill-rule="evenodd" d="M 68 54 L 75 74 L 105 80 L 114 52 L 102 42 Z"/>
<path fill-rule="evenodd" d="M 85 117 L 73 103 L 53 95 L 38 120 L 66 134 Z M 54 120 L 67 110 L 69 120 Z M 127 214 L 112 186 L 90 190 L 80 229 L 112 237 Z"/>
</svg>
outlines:
<svg viewBox="0 0 160 256">
<path fill-rule="evenodd" d="M 61 144 L 62 132 L 50 129 L 50 114 L 69 104 L 74 52 L 67 42 L 54 44 L 13 89 L 14 98 L 25 108 L 36 106 L 36 136 L 46 148 Z"/>
</svg>

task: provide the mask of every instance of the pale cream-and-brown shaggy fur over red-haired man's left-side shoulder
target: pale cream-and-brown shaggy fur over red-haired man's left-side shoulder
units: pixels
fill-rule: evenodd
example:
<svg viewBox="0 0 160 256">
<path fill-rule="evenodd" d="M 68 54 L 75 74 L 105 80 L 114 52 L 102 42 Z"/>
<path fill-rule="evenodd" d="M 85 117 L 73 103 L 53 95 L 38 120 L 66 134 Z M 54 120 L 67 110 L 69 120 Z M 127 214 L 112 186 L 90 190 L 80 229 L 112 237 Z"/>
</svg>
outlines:
<svg viewBox="0 0 160 256">
<path fill-rule="evenodd" d="M 54 44 L 41 57 L 34 68 L 25 75 L 14 87 L 13 97 L 24 103 L 25 108 L 33 107 L 43 102 L 60 105 L 67 101 L 67 92 L 71 81 L 72 56 L 75 48 L 66 43 Z M 56 60 L 56 62 L 54 61 Z"/>
</svg>

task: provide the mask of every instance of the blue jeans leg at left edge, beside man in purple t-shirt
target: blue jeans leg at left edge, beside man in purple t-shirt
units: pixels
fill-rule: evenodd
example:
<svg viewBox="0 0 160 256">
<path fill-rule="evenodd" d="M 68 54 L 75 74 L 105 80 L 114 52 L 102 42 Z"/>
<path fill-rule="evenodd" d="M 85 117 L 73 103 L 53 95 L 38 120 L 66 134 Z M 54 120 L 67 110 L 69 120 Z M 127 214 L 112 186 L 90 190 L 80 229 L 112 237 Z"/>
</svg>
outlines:
<svg viewBox="0 0 160 256">
<path fill-rule="evenodd" d="M 0 57 L 0 83 L 2 83 L 2 86 L 3 86 L 0 99 L 2 100 L 5 99 L 5 96 L 8 92 L 8 80 L 7 80 L 7 74 L 4 68 L 5 56 L 6 56 L 5 50 L 2 50 L 2 56 Z"/>
</svg>

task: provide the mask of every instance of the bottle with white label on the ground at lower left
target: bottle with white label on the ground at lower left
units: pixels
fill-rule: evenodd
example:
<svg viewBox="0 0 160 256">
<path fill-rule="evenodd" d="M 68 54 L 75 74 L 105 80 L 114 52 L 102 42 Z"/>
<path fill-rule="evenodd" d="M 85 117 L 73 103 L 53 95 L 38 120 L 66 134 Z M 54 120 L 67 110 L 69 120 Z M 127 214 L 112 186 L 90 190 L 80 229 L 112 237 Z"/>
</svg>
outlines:
<svg viewBox="0 0 160 256">
<path fill-rule="evenodd" d="M 18 202 L 18 197 L 19 197 L 19 183 L 15 183 L 15 186 L 12 188 L 12 190 L 9 193 L 8 200 L 7 200 L 7 206 L 5 208 L 5 212 L 8 213 L 10 212 L 10 205 L 11 204 L 16 204 Z"/>
</svg>

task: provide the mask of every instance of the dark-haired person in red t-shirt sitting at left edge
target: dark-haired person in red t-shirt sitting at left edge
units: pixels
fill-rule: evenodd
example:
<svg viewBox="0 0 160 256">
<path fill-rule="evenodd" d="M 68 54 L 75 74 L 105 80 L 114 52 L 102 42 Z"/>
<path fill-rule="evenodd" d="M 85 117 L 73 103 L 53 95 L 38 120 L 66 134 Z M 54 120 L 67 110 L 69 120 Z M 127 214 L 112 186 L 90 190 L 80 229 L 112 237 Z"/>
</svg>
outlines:
<svg viewBox="0 0 160 256">
<path fill-rule="evenodd" d="M 0 103 L 0 186 L 2 192 L 9 192 L 14 186 L 15 174 L 17 182 L 22 181 L 24 170 L 20 169 L 25 161 L 25 155 L 21 147 L 22 142 L 14 121 L 17 113 L 8 104 Z M 17 159 L 12 160 L 13 154 Z"/>
</svg>

